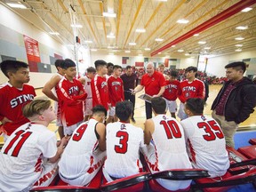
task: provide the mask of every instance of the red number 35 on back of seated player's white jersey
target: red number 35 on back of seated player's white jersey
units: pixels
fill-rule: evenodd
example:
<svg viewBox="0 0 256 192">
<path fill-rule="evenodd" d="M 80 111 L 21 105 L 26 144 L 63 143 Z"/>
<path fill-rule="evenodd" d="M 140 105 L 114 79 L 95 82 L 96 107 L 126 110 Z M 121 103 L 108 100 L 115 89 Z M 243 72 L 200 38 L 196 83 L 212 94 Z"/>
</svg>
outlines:
<svg viewBox="0 0 256 192">
<path fill-rule="evenodd" d="M 220 126 L 215 121 L 208 121 L 206 122 L 199 122 L 197 124 L 198 128 L 204 129 L 204 132 L 207 134 L 204 134 L 204 140 L 211 141 L 216 140 L 216 136 L 219 139 L 224 138 L 223 133 L 220 130 Z"/>
</svg>

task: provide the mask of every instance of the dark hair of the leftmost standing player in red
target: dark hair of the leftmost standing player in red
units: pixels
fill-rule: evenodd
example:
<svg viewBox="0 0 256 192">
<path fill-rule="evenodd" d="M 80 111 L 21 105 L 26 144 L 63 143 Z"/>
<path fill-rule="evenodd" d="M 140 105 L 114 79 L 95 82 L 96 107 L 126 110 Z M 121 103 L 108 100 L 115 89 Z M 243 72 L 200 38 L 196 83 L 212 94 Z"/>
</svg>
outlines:
<svg viewBox="0 0 256 192">
<path fill-rule="evenodd" d="M 28 64 L 18 60 L 4 60 L 0 63 L 0 68 L 4 76 L 8 76 L 8 72 L 16 73 L 20 68 L 28 68 Z"/>
</svg>

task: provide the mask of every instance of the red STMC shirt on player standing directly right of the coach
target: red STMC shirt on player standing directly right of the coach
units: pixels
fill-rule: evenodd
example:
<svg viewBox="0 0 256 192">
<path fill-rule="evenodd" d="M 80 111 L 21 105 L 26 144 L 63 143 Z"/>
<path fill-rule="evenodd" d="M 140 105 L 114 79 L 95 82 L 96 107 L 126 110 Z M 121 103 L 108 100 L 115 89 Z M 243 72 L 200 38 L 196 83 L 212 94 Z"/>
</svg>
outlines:
<svg viewBox="0 0 256 192">
<path fill-rule="evenodd" d="M 166 85 L 163 97 L 166 100 L 176 100 L 178 97 L 178 92 L 180 90 L 180 82 L 178 80 L 166 80 L 165 84 Z"/>
</svg>

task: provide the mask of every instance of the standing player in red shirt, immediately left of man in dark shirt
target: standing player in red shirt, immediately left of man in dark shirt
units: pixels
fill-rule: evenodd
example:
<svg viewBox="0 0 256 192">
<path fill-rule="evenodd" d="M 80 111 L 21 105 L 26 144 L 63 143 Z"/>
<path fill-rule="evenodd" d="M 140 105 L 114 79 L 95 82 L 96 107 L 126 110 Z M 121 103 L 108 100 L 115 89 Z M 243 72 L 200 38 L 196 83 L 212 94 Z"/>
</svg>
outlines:
<svg viewBox="0 0 256 192">
<path fill-rule="evenodd" d="M 115 65 L 113 68 L 113 75 L 108 78 L 108 99 L 109 99 L 109 116 L 107 124 L 116 122 L 118 119 L 115 116 L 116 103 L 124 100 L 124 84 L 120 78 L 122 73 L 122 67 Z"/>
</svg>

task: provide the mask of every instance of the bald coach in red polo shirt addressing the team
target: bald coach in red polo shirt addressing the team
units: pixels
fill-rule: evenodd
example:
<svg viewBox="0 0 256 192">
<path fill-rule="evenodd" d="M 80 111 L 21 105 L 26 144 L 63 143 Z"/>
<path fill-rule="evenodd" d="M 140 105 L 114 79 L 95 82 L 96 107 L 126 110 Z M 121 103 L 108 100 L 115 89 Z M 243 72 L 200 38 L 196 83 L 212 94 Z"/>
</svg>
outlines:
<svg viewBox="0 0 256 192">
<path fill-rule="evenodd" d="M 145 87 L 145 93 L 152 97 L 160 97 L 165 90 L 165 79 L 163 74 L 155 71 L 153 63 L 148 63 L 147 73 L 142 76 L 140 84 L 133 90 L 133 93 L 140 92 Z M 151 103 L 145 101 L 146 117 L 152 118 Z"/>
</svg>

